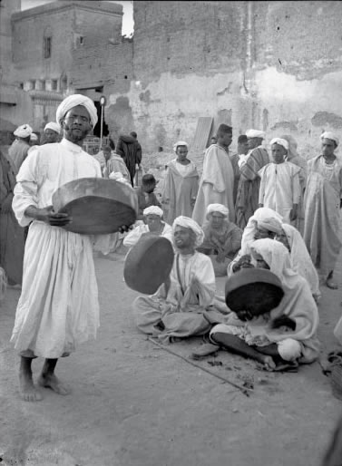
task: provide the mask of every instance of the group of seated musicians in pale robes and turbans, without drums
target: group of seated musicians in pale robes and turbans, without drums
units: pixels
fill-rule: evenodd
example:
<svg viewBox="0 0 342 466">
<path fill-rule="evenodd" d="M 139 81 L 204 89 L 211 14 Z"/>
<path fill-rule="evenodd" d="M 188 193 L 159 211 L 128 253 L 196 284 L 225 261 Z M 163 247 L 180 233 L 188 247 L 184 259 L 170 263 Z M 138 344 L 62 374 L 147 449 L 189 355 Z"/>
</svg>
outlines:
<svg viewBox="0 0 342 466">
<path fill-rule="evenodd" d="M 215 216 L 216 212 L 223 221 Z M 304 263 L 299 264 L 298 257 L 291 255 L 292 249 L 301 246 L 296 244 L 297 236 L 284 228 L 275 211 L 260 208 L 249 219 L 239 253 L 232 260 L 228 245 L 234 245 L 233 238 L 238 240 L 239 231 L 230 227 L 227 217 L 227 209 L 214 204 L 208 208 L 208 223 L 203 229 L 191 218 L 181 216 L 174 220 L 171 241 L 175 257 L 171 275 L 156 293 L 134 300 L 136 325 L 162 342 L 208 335 L 210 343 L 202 345 L 193 357 L 222 348 L 255 359 L 270 371 L 315 361 L 319 352 L 316 303 L 319 289 L 309 257 L 303 253 Z M 208 234 L 210 226 L 219 235 L 212 235 L 212 230 Z M 162 229 L 160 226 L 156 234 L 161 234 Z M 214 243 L 217 254 L 211 254 L 215 248 L 208 254 L 210 240 L 220 238 L 220 232 L 224 231 L 226 241 Z M 213 262 L 218 255 L 226 267 L 228 264 L 229 277 L 245 268 L 269 269 L 280 280 L 284 292 L 279 305 L 259 316 L 249 311 L 232 312 L 225 299 L 216 295 Z"/>
</svg>

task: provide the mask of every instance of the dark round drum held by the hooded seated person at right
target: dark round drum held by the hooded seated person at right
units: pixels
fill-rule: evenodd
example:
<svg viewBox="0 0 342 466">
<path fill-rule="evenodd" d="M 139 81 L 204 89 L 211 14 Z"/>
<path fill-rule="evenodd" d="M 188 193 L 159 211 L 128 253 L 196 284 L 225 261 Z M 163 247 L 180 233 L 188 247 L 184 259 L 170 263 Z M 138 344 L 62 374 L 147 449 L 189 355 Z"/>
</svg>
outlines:
<svg viewBox="0 0 342 466">
<path fill-rule="evenodd" d="M 278 277 L 269 270 L 242 268 L 227 280 L 225 296 L 232 311 L 249 311 L 259 316 L 276 308 L 284 291 Z"/>
</svg>

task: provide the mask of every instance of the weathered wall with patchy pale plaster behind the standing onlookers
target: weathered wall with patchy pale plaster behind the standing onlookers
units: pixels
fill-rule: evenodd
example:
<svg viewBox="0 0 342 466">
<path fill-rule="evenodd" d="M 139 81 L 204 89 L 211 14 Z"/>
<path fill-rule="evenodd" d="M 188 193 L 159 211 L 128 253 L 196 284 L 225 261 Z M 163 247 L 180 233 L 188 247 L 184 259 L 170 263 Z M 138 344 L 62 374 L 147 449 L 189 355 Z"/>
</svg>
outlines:
<svg viewBox="0 0 342 466">
<path fill-rule="evenodd" d="M 134 22 L 131 87 L 110 102 L 146 150 L 191 142 L 200 116 L 231 123 L 233 146 L 255 127 L 305 155 L 342 132 L 340 2 L 136 2 Z"/>
</svg>

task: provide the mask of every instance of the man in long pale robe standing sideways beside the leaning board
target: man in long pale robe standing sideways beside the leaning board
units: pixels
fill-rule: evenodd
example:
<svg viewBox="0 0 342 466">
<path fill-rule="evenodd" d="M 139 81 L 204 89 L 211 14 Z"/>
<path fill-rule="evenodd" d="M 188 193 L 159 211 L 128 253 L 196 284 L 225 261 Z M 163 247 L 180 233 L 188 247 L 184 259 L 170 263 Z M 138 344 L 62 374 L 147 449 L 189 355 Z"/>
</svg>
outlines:
<svg viewBox="0 0 342 466">
<path fill-rule="evenodd" d="M 210 204 L 222 204 L 230 212 L 230 221 L 235 221 L 234 170 L 228 150 L 232 141 L 232 128 L 220 124 L 218 141 L 211 144 L 203 160 L 203 172 L 192 218 L 203 225 Z"/>
</svg>

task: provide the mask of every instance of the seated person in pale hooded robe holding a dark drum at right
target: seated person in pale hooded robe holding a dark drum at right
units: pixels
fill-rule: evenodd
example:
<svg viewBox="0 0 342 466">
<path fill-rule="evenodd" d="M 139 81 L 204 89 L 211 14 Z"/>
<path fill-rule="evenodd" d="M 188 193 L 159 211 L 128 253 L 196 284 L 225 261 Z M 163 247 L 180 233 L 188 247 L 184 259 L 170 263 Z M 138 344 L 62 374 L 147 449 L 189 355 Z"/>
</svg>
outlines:
<svg viewBox="0 0 342 466">
<path fill-rule="evenodd" d="M 284 296 L 265 314 L 232 313 L 233 318 L 211 329 L 210 340 L 271 371 L 312 363 L 319 351 L 318 307 L 307 280 L 290 268 L 288 250 L 278 241 L 258 239 L 250 249 L 255 267 L 267 268 L 280 279 Z"/>
</svg>

